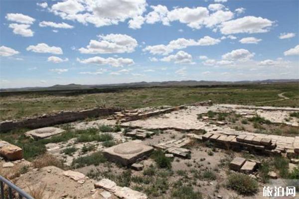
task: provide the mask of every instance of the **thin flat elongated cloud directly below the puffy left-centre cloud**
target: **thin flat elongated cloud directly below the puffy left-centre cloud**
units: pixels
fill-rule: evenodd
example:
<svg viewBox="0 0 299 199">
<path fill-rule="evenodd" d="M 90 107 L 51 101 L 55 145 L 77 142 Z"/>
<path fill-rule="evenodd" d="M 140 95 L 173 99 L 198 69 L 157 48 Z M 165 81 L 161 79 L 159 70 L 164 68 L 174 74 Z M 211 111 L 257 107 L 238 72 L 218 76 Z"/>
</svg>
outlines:
<svg viewBox="0 0 299 199">
<path fill-rule="evenodd" d="M 79 58 L 77 58 L 77 61 L 82 63 L 82 64 L 97 64 L 97 65 L 110 65 L 113 67 L 120 67 L 120 66 L 124 66 L 124 65 L 132 65 L 134 64 L 133 59 L 129 59 L 129 58 L 103 58 L 103 57 L 91 57 L 88 59 L 83 59 L 80 60 Z"/>
</svg>

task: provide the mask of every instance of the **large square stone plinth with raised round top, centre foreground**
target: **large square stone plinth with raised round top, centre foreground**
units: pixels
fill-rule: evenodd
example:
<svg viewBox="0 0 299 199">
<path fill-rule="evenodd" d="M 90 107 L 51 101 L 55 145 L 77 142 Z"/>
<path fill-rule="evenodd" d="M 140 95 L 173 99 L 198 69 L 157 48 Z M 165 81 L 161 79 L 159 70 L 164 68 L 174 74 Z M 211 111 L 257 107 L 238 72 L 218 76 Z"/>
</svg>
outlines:
<svg viewBox="0 0 299 199">
<path fill-rule="evenodd" d="M 130 141 L 107 148 L 103 154 L 111 161 L 128 166 L 138 159 L 148 156 L 152 151 L 151 146 Z"/>
</svg>

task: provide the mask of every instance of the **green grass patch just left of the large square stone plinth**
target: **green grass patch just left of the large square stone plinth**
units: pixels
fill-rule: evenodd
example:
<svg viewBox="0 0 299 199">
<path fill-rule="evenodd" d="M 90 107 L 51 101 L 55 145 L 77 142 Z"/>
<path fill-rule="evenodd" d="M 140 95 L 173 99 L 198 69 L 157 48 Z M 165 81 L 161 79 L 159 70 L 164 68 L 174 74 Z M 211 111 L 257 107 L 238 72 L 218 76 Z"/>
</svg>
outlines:
<svg viewBox="0 0 299 199">
<path fill-rule="evenodd" d="M 104 157 L 101 151 L 95 152 L 89 156 L 79 157 L 73 160 L 73 168 L 81 168 L 89 165 L 98 166 L 100 163 L 105 163 L 107 159 Z"/>
</svg>

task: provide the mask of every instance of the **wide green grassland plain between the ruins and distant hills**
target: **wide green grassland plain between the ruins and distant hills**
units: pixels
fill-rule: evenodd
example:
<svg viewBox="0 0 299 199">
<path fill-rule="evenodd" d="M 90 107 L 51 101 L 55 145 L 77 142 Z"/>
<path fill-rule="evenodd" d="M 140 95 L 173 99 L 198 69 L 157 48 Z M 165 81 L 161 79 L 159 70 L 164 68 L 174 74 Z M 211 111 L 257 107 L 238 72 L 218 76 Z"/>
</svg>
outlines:
<svg viewBox="0 0 299 199">
<path fill-rule="evenodd" d="M 299 107 L 299 84 L 247 84 L 197 87 L 121 88 L 90 91 L 46 91 L 1 93 L 0 120 L 19 119 L 60 110 L 79 110 L 91 107 L 140 108 L 145 106 L 181 105 L 212 100 L 214 103 Z"/>
</svg>

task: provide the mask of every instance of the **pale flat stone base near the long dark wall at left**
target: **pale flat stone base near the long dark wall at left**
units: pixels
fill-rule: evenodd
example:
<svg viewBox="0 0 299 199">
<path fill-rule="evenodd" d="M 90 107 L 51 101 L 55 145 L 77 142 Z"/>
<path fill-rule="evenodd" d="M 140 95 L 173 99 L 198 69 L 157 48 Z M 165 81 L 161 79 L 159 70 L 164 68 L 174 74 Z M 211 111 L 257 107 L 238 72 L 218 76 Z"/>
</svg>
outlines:
<svg viewBox="0 0 299 199">
<path fill-rule="evenodd" d="M 55 128 L 55 127 L 44 127 L 44 128 L 37 128 L 31 131 L 25 132 L 25 135 L 28 137 L 32 137 L 35 139 L 43 139 L 47 137 L 51 137 L 53 135 L 60 134 L 64 132 L 65 130 L 61 128 Z"/>
</svg>

